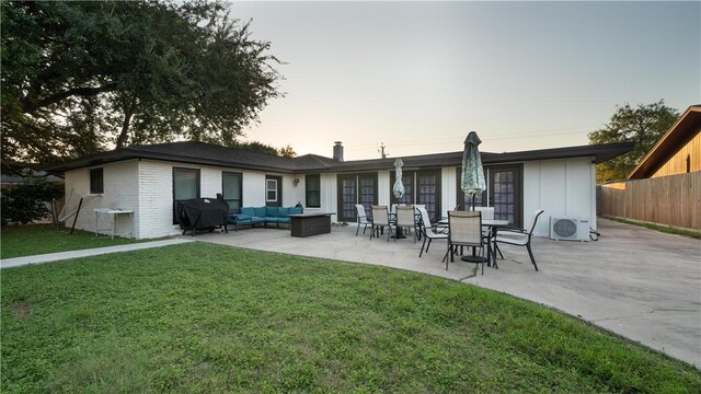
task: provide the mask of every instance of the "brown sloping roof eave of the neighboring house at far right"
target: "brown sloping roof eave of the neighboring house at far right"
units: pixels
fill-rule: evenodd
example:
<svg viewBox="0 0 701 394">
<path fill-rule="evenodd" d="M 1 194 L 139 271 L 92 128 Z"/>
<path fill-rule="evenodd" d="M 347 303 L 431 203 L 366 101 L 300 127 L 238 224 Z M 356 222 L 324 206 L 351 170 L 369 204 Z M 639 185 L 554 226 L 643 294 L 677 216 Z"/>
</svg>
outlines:
<svg viewBox="0 0 701 394">
<path fill-rule="evenodd" d="M 629 179 L 650 177 L 671 158 L 681 146 L 701 131 L 701 105 L 692 105 L 645 154 L 628 175 Z"/>
</svg>

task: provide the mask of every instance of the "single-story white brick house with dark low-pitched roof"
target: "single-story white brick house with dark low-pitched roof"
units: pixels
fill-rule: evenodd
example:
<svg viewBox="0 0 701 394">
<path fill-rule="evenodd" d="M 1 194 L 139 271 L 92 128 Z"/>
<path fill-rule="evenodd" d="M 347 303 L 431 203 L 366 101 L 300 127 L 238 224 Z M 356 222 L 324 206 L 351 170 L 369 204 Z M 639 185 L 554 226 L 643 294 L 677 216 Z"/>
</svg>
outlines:
<svg viewBox="0 0 701 394">
<path fill-rule="evenodd" d="M 460 143 L 461 146 L 461 143 Z M 632 143 L 608 143 L 521 152 L 482 153 L 487 190 L 478 198 L 497 219 L 527 224 L 543 208 L 536 233 L 549 235 L 549 217 L 587 218 L 596 229 L 596 163 L 629 152 Z M 394 158 L 344 161 L 336 142 L 333 158 L 279 158 L 203 142 L 133 146 L 55 165 L 64 173 L 66 196 L 91 196 L 76 228 L 94 231 L 94 208 L 134 210 L 127 232 L 137 239 L 177 234 L 177 201 L 215 197 L 232 210 L 250 206 L 295 206 L 334 212 L 334 222 L 355 222 L 355 204 L 424 204 L 433 218 L 471 198 L 460 190 L 462 151 L 402 157 L 406 194 L 391 194 Z M 67 204 L 69 204 L 67 201 Z M 72 220 L 71 223 L 72 224 Z"/>
</svg>

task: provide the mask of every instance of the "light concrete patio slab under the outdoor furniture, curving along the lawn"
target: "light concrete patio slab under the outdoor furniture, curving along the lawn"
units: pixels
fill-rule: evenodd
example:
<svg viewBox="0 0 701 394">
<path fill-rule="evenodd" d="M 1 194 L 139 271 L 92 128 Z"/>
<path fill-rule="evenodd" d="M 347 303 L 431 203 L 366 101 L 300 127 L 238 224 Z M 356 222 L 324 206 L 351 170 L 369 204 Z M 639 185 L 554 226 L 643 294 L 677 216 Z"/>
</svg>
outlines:
<svg viewBox="0 0 701 394">
<path fill-rule="evenodd" d="M 539 271 L 525 247 L 502 246 L 499 269 L 441 263 L 446 242 L 418 257 L 412 237 L 369 241 L 369 230 L 334 227 L 291 237 L 286 229 L 243 229 L 194 239 L 258 251 L 382 265 L 478 285 L 576 315 L 653 349 L 701 367 L 701 241 L 599 220 L 598 242 L 535 239 Z M 187 236 L 188 239 L 192 239 Z"/>
</svg>

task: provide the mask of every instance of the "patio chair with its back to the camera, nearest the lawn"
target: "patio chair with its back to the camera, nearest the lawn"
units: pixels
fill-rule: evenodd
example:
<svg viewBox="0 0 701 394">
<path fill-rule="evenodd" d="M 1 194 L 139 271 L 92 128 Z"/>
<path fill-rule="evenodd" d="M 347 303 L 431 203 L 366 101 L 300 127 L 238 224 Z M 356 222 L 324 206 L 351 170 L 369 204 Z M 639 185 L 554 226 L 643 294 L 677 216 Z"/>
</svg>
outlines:
<svg viewBox="0 0 701 394">
<path fill-rule="evenodd" d="M 448 264 L 452 263 L 457 247 L 472 247 L 472 256 L 463 256 L 462 260 L 468 263 L 482 264 L 482 275 L 484 275 L 484 264 L 487 262 L 485 256 L 485 243 L 482 236 L 482 212 L 480 211 L 449 211 L 448 212 L 448 251 L 450 260 L 446 259 L 446 269 Z M 474 252 L 481 250 L 481 255 Z"/>
</svg>

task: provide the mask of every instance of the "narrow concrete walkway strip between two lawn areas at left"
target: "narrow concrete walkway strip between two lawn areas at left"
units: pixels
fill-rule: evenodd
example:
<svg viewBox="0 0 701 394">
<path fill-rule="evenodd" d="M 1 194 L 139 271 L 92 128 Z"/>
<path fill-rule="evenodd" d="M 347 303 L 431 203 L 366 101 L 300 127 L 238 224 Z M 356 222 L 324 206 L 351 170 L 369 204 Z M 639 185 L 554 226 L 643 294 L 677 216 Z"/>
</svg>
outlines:
<svg viewBox="0 0 701 394">
<path fill-rule="evenodd" d="M 136 244 L 128 244 L 128 245 L 95 247 L 95 248 L 82 250 L 82 251 L 69 251 L 69 252 L 59 252 L 59 253 L 48 253 L 48 254 L 36 255 L 36 256 L 5 258 L 5 259 L 0 259 L 0 268 L 21 267 L 28 264 L 43 264 L 43 263 L 57 262 L 57 260 L 62 260 L 68 258 L 101 255 L 106 253 L 139 251 L 143 248 L 161 247 L 161 246 L 175 245 L 175 244 L 181 244 L 186 242 L 193 242 L 193 240 L 187 240 L 187 239 L 161 240 L 161 241 L 142 242 L 142 243 L 136 243 Z"/>
</svg>

